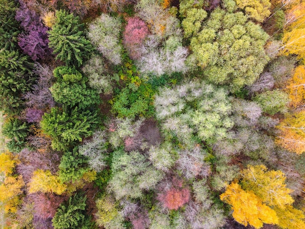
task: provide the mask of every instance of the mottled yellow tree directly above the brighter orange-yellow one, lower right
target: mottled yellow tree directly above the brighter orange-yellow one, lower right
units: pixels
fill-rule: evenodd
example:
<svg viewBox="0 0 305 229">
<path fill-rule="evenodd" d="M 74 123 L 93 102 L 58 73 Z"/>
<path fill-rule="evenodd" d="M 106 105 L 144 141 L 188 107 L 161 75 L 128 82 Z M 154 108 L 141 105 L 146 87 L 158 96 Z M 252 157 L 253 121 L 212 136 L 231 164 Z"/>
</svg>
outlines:
<svg viewBox="0 0 305 229">
<path fill-rule="evenodd" d="M 286 188 L 286 176 L 282 171 L 267 171 L 266 166 L 248 166 L 242 172 L 241 185 L 244 190 L 253 191 L 268 206 L 284 208 L 293 203 L 289 193 L 292 190 Z"/>
</svg>

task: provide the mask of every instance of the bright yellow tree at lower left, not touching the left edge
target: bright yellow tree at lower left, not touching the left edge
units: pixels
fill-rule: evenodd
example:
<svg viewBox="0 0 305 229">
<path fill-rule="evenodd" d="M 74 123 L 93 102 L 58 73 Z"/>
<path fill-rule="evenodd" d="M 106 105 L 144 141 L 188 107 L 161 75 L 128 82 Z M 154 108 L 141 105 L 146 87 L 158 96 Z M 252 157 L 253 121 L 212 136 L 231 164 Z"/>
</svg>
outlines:
<svg viewBox="0 0 305 229">
<path fill-rule="evenodd" d="M 41 191 L 53 192 L 60 195 L 67 189 L 67 186 L 61 184 L 59 178 L 53 175 L 49 170 L 36 170 L 33 172 L 32 179 L 28 186 L 29 193 Z"/>
</svg>

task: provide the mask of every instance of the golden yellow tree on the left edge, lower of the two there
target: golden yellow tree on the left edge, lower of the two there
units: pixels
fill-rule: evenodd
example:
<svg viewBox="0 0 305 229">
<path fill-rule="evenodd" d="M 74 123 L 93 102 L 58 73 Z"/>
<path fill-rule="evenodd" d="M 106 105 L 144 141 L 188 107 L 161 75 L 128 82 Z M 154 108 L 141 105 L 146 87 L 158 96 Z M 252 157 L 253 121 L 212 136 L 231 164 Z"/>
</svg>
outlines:
<svg viewBox="0 0 305 229">
<path fill-rule="evenodd" d="M 5 212 L 16 212 L 21 200 L 21 188 L 24 186 L 22 176 L 8 176 L 0 185 L 0 206 L 4 207 Z"/>
</svg>

